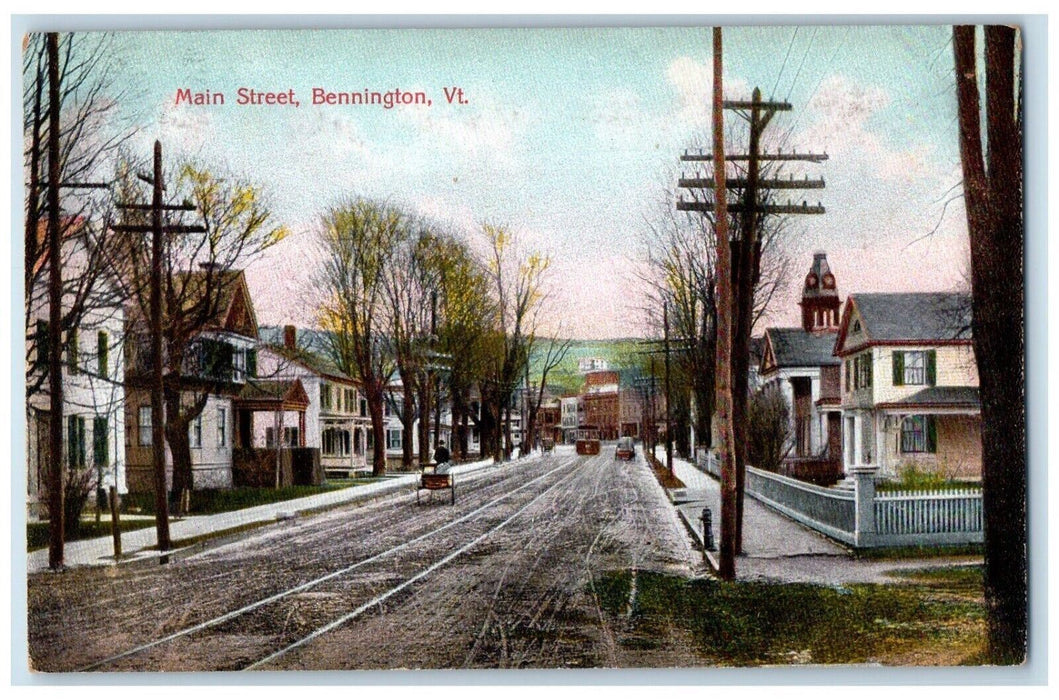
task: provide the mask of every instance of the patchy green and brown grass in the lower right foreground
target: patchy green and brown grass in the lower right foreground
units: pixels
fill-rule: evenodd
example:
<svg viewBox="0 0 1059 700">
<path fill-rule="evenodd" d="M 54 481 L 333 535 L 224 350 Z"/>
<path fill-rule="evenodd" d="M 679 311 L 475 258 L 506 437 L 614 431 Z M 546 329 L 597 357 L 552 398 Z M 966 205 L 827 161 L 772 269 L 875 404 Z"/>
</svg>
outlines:
<svg viewBox="0 0 1059 700">
<path fill-rule="evenodd" d="M 651 572 L 596 579 L 600 606 L 624 622 L 618 643 L 660 644 L 671 630 L 704 663 L 977 663 L 985 648 L 981 569 L 907 573 L 908 584 L 841 587 L 715 579 Z"/>
</svg>

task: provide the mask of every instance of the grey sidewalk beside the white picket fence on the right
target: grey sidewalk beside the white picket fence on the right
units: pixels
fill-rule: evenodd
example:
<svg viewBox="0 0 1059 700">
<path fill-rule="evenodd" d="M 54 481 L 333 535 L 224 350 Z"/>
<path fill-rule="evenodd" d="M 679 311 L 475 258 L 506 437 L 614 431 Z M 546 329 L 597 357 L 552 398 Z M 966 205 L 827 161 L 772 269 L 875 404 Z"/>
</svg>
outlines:
<svg viewBox="0 0 1059 700">
<path fill-rule="evenodd" d="M 660 456 L 664 461 L 664 455 Z M 702 509 L 712 511 L 713 552 L 706 558 L 716 571 L 720 548 L 720 484 L 698 467 L 674 456 L 672 469 L 686 486 L 685 498 L 676 507 L 699 544 L 703 541 Z M 887 575 L 899 569 L 923 569 L 948 564 L 980 563 L 981 557 L 928 557 L 915 559 L 857 559 L 852 552 L 790 518 L 772 510 L 752 496 L 743 500 L 742 549 L 736 557 L 739 580 L 841 584 L 893 582 Z"/>
</svg>

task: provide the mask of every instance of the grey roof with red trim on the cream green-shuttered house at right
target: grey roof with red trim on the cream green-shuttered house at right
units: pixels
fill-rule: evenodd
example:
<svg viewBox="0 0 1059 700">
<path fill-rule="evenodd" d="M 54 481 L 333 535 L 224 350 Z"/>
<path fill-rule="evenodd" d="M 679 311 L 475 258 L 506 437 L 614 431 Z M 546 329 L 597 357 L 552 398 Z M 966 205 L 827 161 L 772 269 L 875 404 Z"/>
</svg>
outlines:
<svg viewBox="0 0 1059 700">
<path fill-rule="evenodd" d="M 873 343 L 951 343 L 971 340 L 971 297 L 951 292 L 850 294 L 834 351 L 844 348 L 854 311 Z"/>
</svg>

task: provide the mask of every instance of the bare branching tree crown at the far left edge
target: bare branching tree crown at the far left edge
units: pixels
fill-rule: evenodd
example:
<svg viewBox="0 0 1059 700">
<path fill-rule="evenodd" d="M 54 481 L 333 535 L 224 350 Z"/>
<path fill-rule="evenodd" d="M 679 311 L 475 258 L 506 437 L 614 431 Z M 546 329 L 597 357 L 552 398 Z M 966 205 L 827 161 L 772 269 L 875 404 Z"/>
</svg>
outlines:
<svg viewBox="0 0 1059 700">
<path fill-rule="evenodd" d="M 118 115 L 124 96 L 112 79 L 113 48 L 108 35 L 58 35 L 58 97 L 53 106 L 47 95 L 47 52 L 43 34 L 26 37 L 22 53 L 23 162 L 26 175 L 24 229 L 25 391 L 32 399 L 46 392 L 48 372 L 40 341 L 47 334 L 68 335 L 96 310 L 121 308 L 121 287 L 113 284 L 110 261 L 118 234 L 114 207 L 106 187 L 115 158 L 134 128 Z M 38 321 L 48 303 L 50 265 L 44 228 L 49 217 L 44 157 L 51 110 L 58 112 L 60 248 L 62 273 L 60 327 Z"/>
</svg>

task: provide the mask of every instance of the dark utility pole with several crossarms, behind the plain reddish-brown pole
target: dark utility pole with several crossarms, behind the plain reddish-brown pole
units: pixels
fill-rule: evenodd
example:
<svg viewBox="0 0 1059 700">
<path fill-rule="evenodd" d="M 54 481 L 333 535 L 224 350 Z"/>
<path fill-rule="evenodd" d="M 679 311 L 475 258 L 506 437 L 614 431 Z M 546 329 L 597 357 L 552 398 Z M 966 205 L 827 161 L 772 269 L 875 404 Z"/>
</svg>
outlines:
<svg viewBox="0 0 1059 700">
<path fill-rule="evenodd" d="M 715 64 L 720 60 L 717 55 L 717 42 L 719 41 L 718 34 L 715 33 Z M 716 69 L 716 66 L 715 66 Z M 739 215 L 739 234 L 735 240 L 732 240 L 730 245 L 725 245 L 724 248 L 728 249 L 723 257 L 721 255 L 721 244 L 718 240 L 718 279 L 720 280 L 723 275 L 720 272 L 722 265 L 728 268 L 728 274 L 731 275 L 731 298 L 729 304 L 731 304 L 732 313 L 732 325 L 730 328 L 731 334 L 731 355 L 730 360 L 730 391 L 731 391 L 731 419 L 732 419 L 732 430 L 734 435 L 734 442 L 732 445 L 733 459 L 735 462 L 735 488 L 736 488 L 736 515 L 735 515 L 735 552 L 742 551 L 742 505 L 743 505 L 743 493 L 746 484 L 746 460 L 747 460 L 747 405 L 749 401 L 749 377 L 748 373 L 750 371 L 750 336 L 753 325 L 753 308 L 754 308 L 754 288 L 757 285 L 758 279 L 760 276 L 760 256 L 761 256 L 761 240 L 760 240 L 760 222 L 765 215 L 768 214 L 824 214 L 825 210 L 819 202 L 816 204 L 809 204 L 803 201 L 801 204 L 796 202 L 787 203 L 762 203 L 760 201 L 760 191 L 774 191 L 774 190 L 820 190 L 824 187 L 823 179 L 810 180 L 808 177 L 802 180 L 795 180 L 793 177 L 788 177 L 787 179 L 782 178 L 771 178 L 761 179 L 760 167 L 762 161 L 775 161 L 775 162 L 788 162 L 788 161 L 802 161 L 811 163 L 822 163 L 827 160 L 827 154 L 801 154 L 801 152 L 783 152 L 782 150 L 773 154 L 761 151 L 761 134 L 768 127 L 772 118 L 775 116 L 777 111 L 789 111 L 791 105 L 786 102 L 766 102 L 761 100 L 761 92 L 759 89 L 754 89 L 752 98 L 747 101 L 724 101 L 722 95 L 718 94 L 718 86 L 716 80 L 719 78 L 715 75 L 715 94 L 714 94 L 714 110 L 719 112 L 721 109 L 729 109 L 735 111 L 737 114 L 747 120 L 750 125 L 750 144 L 747 154 L 734 154 L 725 156 L 721 151 L 723 143 L 718 140 L 717 129 L 722 128 L 718 126 L 717 118 L 715 114 L 714 124 L 714 152 L 712 155 L 707 154 L 688 154 L 685 152 L 682 157 L 682 161 L 710 161 L 714 163 L 714 179 L 713 182 L 708 181 L 706 178 L 693 177 L 684 178 L 682 177 L 679 182 L 679 186 L 686 187 L 690 190 L 701 190 L 701 189 L 712 189 L 714 190 L 714 202 L 700 201 L 698 199 L 693 201 L 686 201 L 681 197 L 680 201 L 677 202 L 678 211 L 694 211 L 694 212 L 714 212 L 714 218 L 717 226 L 717 235 L 720 237 L 720 228 L 723 226 L 728 227 L 728 214 L 738 214 Z M 722 137 L 721 137 L 722 138 Z M 747 169 L 746 176 L 739 178 L 718 178 L 718 170 L 724 170 L 725 162 L 736 162 L 746 161 Z M 741 192 L 740 201 L 729 204 L 726 197 L 721 196 L 718 193 L 726 193 L 729 190 Z M 722 213 L 723 212 L 723 213 Z M 726 237 L 726 234 L 725 234 Z M 729 277 L 725 277 L 728 280 Z M 718 282 L 718 289 L 720 288 L 720 282 Z M 720 298 L 720 294 L 718 294 Z M 725 306 L 724 302 L 718 301 L 719 306 Z M 724 309 L 725 312 L 729 309 Z M 719 309 L 720 313 L 720 309 Z M 722 326 L 722 324 L 719 323 Z M 722 326 L 723 327 L 723 326 Z M 719 331 L 720 333 L 720 329 Z M 720 359 L 720 343 L 718 344 L 718 360 Z M 720 373 L 720 369 L 718 367 Z M 725 377 L 728 379 L 728 377 Z M 718 413 L 719 413 L 718 409 Z M 723 471 L 723 462 L 722 462 Z M 724 541 L 724 517 L 721 517 L 722 535 L 721 535 L 721 553 L 723 555 L 725 541 Z M 722 556 L 723 558 L 723 556 Z"/>
</svg>

